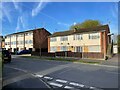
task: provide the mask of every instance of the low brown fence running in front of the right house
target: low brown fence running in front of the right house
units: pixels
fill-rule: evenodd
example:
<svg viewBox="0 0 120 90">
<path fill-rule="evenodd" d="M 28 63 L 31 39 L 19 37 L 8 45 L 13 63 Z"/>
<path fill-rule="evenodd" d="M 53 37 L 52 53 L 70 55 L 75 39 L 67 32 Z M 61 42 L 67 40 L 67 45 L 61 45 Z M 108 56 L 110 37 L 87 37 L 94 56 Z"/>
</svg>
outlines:
<svg viewBox="0 0 120 90">
<path fill-rule="evenodd" d="M 32 55 L 39 56 L 39 52 L 32 52 Z M 79 58 L 98 58 L 103 59 L 104 54 L 98 52 L 88 52 L 88 53 L 81 53 L 81 52 L 71 52 L 71 51 L 64 51 L 64 52 L 55 52 L 55 53 L 48 53 L 48 52 L 41 52 L 41 56 L 46 57 L 79 57 Z"/>
</svg>

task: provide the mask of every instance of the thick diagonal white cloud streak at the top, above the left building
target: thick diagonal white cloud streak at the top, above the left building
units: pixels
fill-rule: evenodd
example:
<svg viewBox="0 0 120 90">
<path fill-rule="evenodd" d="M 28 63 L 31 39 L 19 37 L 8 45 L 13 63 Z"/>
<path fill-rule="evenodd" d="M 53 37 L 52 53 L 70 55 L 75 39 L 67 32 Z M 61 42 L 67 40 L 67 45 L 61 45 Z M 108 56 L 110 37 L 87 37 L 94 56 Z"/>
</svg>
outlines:
<svg viewBox="0 0 120 90">
<path fill-rule="evenodd" d="M 47 1 L 47 0 L 45 0 Z M 47 5 L 47 2 L 43 2 L 43 0 L 41 0 L 37 7 L 33 8 L 32 9 L 32 16 L 36 16 L 45 6 Z"/>
</svg>

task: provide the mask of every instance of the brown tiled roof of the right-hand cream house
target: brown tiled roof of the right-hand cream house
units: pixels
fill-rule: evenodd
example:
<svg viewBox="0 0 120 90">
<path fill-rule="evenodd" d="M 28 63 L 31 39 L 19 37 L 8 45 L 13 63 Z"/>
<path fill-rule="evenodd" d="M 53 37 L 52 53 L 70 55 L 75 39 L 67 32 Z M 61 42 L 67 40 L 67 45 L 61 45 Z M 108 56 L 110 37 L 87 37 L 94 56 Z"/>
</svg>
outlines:
<svg viewBox="0 0 120 90">
<path fill-rule="evenodd" d="M 67 35 L 72 35 L 72 34 L 77 34 L 77 33 L 89 33 L 89 32 L 99 32 L 102 30 L 109 30 L 108 25 L 102 25 L 102 26 L 97 26 L 93 28 L 84 28 L 84 29 L 76 29 L 76 30 L 68 30 L 68 31 L 62 31 L 62 32 L 55 32 L 49 37 L 57 37 L 57 36 L 67 36 Z M 110 31 L 108 31 L 110 32 Z"/>
</svg>

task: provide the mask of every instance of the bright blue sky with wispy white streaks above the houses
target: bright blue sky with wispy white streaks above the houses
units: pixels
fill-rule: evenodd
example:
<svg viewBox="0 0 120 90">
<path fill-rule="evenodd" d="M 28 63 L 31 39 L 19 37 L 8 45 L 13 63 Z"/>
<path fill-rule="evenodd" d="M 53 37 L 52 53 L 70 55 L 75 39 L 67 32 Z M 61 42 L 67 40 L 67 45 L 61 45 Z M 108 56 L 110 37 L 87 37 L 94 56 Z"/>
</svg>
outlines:
<svg viewBox="0 0 120 90">
<path fill-rule="evenodd" d="M 2 2 L 0 12 L 3 36 L 42 27 L 51 33 L 65 31 L 88 19 L 118 33 L 117 2 Z"/>
</svg>

